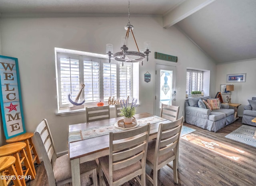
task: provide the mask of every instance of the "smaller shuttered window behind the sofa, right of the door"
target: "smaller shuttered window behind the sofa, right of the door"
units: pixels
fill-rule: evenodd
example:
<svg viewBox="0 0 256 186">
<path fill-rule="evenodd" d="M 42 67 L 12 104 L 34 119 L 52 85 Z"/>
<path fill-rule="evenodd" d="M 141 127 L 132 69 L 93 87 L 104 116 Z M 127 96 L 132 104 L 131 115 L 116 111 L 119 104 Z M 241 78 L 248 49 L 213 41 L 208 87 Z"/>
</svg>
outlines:
<svg viewBox="0 0 256 186">
<path fill-rule="evenodd" d="M 186 91 L 191 94 L 191 91 L 202 91 L 203 71 L 187 69 Z"/>
</svg>

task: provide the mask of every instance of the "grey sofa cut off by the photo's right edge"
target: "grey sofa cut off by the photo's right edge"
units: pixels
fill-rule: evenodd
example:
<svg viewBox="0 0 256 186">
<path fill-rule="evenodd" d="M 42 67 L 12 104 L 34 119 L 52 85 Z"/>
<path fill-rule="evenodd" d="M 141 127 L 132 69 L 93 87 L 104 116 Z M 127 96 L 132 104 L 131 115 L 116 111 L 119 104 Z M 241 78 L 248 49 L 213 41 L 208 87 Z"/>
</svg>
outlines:
<svg viewBox="0 0 256 186">
<path fill-rule="evenodd" d="M 252 122 L 252 119 L 254 119 L 256 117 L 256 110 L 254 110 L 255 104 L 253 104 L 253 102 L 254 103 L 256 102 L 256 97 L 252 97 L 252 101 L 250 101 L 250 102 L 249 103 L 252 105 L 244 106 L 244 115 L 242 118 L 242 123 L 256 126 L 256 123 Z"/>
</svg>

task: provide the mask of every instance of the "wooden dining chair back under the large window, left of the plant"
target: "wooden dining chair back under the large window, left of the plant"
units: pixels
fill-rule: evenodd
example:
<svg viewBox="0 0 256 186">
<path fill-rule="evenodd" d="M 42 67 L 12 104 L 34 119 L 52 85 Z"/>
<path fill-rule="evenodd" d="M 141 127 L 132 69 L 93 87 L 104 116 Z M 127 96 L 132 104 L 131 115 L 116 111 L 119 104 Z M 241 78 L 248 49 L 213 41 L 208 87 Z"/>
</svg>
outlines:
<svg viewBox="0 0 256 186">
<path fill-rule="evenodd" d="M 86 122 L 110 119 L 109 105 L 102 107 L 86 107 Z"/>
</svg>

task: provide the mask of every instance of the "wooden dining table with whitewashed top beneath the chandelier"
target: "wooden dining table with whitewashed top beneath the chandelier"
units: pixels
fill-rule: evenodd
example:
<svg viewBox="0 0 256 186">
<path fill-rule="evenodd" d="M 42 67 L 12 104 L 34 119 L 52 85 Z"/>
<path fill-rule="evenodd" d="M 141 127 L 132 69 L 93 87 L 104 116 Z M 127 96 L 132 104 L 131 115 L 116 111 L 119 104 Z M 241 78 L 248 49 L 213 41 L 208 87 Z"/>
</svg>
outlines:
<svg viewBox="0 0 256 186">
<path fill-rule="evenodd" d="M 158 132 L 158 126 L 160 123 L 170 122 L 166 119 L 154 116 L 149 113 L 140 113 L 134 115 L 138 119 L 146 119 L 148 117 L 156 117 L 159 122 L 150 123 L 150 137 L 149 140 L 156 138 Z M 90 131 L 99 127 L 108 127 L 114 125 L 123 117 L 104 119 L 100 121 L 93 121 L 88 123 L 79 123 L 74 125 L 69 125 L 69 133 L 76 131 Z M 138 126 L 139 127 L 139 126 Z M 101 135 L 97 137 L 92 137 L 88 139 L 82 139 L 78 141 L 73 141 L 68 143 L 68 152 L 71 162 L 72 170 L 72 185 L 80 186 L 80 164 L 83 162 L 88 162 L 91 160 L 96 160 L 102 156 L 107 156 L 109 154 L 109 133 L 107 135 Z"/>
</svg>

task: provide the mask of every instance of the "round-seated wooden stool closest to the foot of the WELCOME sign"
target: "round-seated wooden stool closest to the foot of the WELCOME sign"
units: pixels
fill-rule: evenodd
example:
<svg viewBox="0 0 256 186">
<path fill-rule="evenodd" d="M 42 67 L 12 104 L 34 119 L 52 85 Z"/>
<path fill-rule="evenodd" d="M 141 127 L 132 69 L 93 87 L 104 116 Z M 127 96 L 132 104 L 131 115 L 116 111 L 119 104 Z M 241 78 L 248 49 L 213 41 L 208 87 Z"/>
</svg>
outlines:
<svg viewBox="0 0 256 186">
<path fill-rule="evenodd" d="M 6 140 L 6 142 L 8 143 L 14 143 L 14 142 L 25 142 L 26 143 L 26 153 L 28 156 L 28 161 L 31 165 L 31 168 L 34 172 L 34 175 L 36 176 L 36 169 L 34 166 L 34 162 L 36 160 L 36 163 L 39 165 L 41 162 L 38 158 L 34 143 L 32 142 L 32 137 L 34 136 L 34 133 L 24 133 L 21 135 L 18 135 L 16 137 L 10 138 L 8 140 Z M 31 152 L 31 150 L 33 150 L 33 154 L 34 154 L 34 159 L 33 159 L 33 154 Z"/>
</svg>

